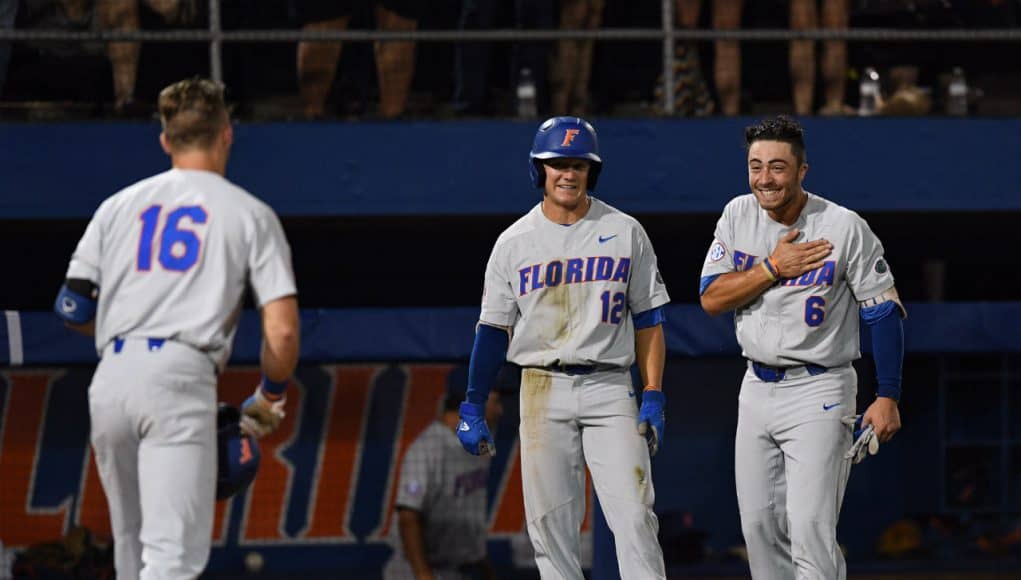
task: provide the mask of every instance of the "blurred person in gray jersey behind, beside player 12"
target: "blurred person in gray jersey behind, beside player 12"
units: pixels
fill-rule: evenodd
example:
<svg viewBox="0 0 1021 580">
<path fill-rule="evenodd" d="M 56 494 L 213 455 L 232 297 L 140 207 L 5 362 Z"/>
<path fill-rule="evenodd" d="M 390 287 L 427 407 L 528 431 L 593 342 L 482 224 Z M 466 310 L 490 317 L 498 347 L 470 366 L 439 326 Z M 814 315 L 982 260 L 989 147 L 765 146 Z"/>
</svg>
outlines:
<svg viewBox="0 0 1021 580">
<path fill-rule="evenodd" d="M 467 454 L 454 435 L 464 396 L 463 388 L 451 388 L 440 417 L 404 453 L 395 502 L 399 537 L 384 580 L 494 578 L 486 557 L 490 457 Z M 485 413 L 488 423 L 499 423 L 499 392 L 490 391 Z"/>
</svg>

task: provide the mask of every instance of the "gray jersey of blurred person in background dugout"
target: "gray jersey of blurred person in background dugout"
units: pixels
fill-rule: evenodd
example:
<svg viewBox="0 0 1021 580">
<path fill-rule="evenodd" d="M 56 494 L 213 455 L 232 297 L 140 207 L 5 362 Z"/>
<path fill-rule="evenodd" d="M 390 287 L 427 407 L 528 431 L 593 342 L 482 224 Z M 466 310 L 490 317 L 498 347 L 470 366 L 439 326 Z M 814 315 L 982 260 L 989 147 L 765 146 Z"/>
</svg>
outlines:
<svg viewBox="0 0 1021 580">
<path fill-rule="evenodd" d="M 486 483 L 489 456 L 465 452 L 453 431 L 432 423 L 411 443 L 400 468 L 395 504 L 422 514 L 426 558 L 436 568 L 456 568 L 486 555 Z M 393 561 L 403 561 L 393 527 Z M 404 563 L 394 562 L 384 576 L 397 578 Z"/>
</svg>

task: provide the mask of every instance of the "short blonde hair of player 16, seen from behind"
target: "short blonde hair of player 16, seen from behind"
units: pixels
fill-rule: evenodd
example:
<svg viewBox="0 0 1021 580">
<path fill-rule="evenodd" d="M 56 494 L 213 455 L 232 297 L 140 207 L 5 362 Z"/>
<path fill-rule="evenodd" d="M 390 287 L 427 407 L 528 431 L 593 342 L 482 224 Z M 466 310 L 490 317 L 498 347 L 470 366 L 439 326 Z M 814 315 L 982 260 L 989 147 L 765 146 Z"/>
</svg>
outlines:
<svg viewBox="0 0 1021 580">
<path fill-rule="evenodd" d="M 230 123 L 224 85 L 198 77 L 159 92 L 159 122 L 171 147 L 209 147 Z"/>
</svg>

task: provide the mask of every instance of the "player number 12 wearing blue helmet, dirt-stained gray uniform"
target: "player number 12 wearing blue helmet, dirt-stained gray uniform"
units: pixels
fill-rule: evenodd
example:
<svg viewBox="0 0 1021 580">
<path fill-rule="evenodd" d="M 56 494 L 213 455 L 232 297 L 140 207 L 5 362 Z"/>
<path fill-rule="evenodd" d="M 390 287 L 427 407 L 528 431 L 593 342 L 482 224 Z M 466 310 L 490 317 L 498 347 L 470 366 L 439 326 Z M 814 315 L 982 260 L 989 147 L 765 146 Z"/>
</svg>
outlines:
<svg viewBox="0 0 1021 580">
<path fill-rule="evenodd" d="M 542 578 L 582 579 L 586 465 L 622 577 L 665 578 L 649 456 L 663 440 L 670 298 L 641 225 L 588 195 L 601 168 L 587 122 L 539 127 L 529 171 L 543 198 L 486 265 L 457 435 L 471 453 L 493 452 L 482 403 L 504 358 L 521 366 L 525 515 Z M 644 389 L 632 386 L 633 362 Z"/>
</svg>

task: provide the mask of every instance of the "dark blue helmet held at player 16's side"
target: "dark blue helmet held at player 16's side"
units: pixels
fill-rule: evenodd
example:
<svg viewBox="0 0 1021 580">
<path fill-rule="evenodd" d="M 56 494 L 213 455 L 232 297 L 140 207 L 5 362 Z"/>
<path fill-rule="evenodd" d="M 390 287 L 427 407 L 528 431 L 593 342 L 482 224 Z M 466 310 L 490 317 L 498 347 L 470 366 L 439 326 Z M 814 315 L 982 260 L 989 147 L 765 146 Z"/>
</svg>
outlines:
<svg viewBox="0 0 1021 580">
<path fill-rule="evenodd" d="M 238 407 L 220 403 L 216 410 L 216 499 L 242 491 L 258 472 L 258 443 L 241 432 Z"/>
</svg>

